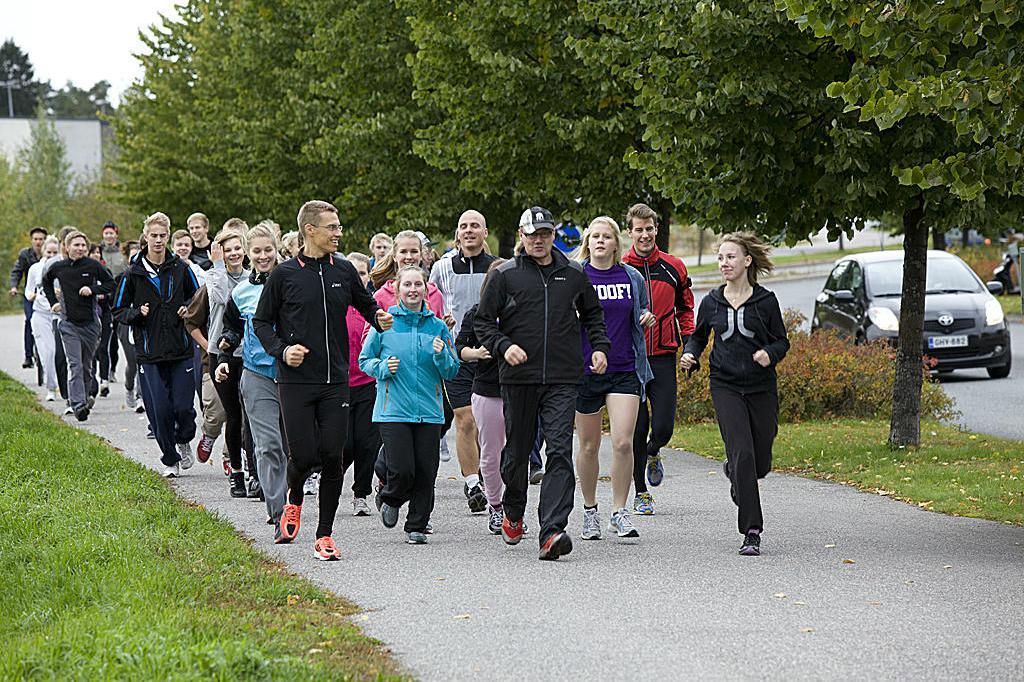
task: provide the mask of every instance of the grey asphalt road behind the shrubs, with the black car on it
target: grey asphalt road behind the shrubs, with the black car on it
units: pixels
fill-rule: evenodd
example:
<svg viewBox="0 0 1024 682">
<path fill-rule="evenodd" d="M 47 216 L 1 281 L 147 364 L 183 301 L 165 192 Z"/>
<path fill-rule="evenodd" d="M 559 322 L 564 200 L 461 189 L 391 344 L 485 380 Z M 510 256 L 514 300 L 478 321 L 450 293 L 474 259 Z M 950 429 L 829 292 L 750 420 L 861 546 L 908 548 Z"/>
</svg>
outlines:
<svg viewBox="0 0 1024 682">
<path fill-rule="evenodd" d="M 782 308 L 800 310 L 808 321 L 814 315 L 814 297 L 827 274 L 766 282 L 775 292 Z M 695 287 L 700 298 L 709 287 Z M 807 323 L 808 328 L 810 322 Z M 1006 438 L 1024 440 L 1024 325 L 1011 323 L 1013 369 L 1005 379 L 990 379 L 985 370 L 957 370 L 939 377 L 942 387 L 956 401 L 959 412 L 954 422 L 966 429 Z"/>
</svg>

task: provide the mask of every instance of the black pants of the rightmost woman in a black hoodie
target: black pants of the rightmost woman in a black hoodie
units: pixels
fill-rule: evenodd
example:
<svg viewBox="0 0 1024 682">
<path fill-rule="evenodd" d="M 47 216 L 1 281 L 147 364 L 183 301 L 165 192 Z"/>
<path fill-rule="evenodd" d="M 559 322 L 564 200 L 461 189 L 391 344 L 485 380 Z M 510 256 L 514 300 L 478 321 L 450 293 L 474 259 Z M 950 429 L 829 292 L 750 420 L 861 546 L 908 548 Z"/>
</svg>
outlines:
<svg viewBox="0 0 1024 682">
<path fill-rule="evenodd" d="M 763 530 L 758 479 L 771 471 L 771 446 L 778 433 L 778 395 L 712 388 L 711 398 L 729 461 L 729 479 L 736 492 L 739 532 Z"/>
</svg>

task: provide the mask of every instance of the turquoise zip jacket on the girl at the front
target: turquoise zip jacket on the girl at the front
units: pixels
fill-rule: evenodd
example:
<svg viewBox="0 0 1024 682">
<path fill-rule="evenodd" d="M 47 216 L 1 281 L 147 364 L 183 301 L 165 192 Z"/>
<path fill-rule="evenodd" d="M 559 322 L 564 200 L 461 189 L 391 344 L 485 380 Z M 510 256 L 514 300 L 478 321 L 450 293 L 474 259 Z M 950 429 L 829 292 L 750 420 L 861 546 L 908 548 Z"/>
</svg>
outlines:
<svg viewBox="0 0 1024 682">
<path fill-rule="evenodd" d="M 424 305 L 414 312 L 398 304 L 388 308 L 394 326 L 386 332 L 371 328 L 359 352 L 359 369 L 377 380 L 375 422 L 444 423 L 444 380 L 459 372 L 459 359 L 447 326 Z M 434 352 L 434 338 L 444 348 Z M 389 357 L 397 357 L 391 374 Z"/>
</svg>

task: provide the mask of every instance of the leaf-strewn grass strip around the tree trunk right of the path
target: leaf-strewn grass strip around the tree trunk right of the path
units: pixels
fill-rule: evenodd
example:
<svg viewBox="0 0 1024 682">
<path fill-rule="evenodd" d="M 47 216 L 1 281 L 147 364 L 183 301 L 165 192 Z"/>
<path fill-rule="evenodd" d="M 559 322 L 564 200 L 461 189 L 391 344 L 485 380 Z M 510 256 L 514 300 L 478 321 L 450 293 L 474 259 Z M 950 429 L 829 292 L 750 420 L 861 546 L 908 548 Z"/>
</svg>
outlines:
<svg viewBox="0 0 1024 682">
<path fill-rule="evenodd" d="M 891 451 L 888 436 L 881 420 L 782 424 L 773 467 L 931 511 L 1024 524 L 1024 443 L 938 424 L 922 426 L 918 449 Z M 679 425 L 671 444 L 725 458 L 717 424 Z"/>
</svg>

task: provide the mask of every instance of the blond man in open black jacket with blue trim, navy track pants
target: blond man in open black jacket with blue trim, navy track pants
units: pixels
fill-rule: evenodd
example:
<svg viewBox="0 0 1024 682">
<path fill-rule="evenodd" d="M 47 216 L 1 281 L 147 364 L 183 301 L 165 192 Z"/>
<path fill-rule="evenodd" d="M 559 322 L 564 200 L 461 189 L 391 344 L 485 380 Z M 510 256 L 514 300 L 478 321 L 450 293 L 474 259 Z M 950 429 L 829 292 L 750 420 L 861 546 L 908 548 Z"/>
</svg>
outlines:
<svg viewBox="0 0 1024 682">
<path fill-rule="evenodd" d="M 125 271 L 114 296 L 114 316 L 132 329 L 142 402 L 160 445 L 163 474 L 171 478 L 193 465 L 195 366 L 191 337 L 181 318 L 199 282 L 167 249 L 170 218 L 158 212 L 143 224 L 146 246 Z"/>
</svg>

